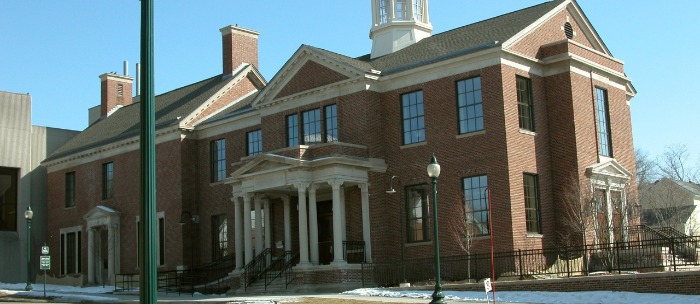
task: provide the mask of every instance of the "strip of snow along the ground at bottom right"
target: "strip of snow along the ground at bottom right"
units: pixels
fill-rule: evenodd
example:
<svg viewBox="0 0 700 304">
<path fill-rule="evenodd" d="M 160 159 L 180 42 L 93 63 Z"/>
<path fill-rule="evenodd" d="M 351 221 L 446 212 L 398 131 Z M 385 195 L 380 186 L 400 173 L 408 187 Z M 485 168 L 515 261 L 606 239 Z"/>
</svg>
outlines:
<svg viewBox="0 0 700 304">
<path fill-rule="evenodd" d="M 446 300 L 484 301 L 486 293 L 478 291 L 443 291 Z M 432 291 L 389 290 L 363 288 L 343 292 L 347 295 L 377 297 L 408 297 L 430 299 Z M 493 294 L 489 293 L 489 299 Z M 700 295 L 655 294 L 615 291 L 543 292 L 543 291 L 497 291 L 497 302 L 520 302 L 538 304 L 662 304 L 700 303 Z"/>
</svg>

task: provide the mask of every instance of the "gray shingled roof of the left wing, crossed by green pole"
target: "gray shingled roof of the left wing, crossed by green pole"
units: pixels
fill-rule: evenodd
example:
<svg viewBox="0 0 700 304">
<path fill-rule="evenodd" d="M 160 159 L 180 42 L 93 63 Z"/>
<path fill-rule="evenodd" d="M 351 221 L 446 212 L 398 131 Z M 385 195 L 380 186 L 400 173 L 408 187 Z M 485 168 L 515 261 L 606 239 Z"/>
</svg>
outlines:
<svg viewBox="0 0 700 304">
<path fill-rule="evenodd" d="M 185 117 L 219 91 L 230 78 L 214 76 L 191 85 L 156 96 L 156 129 L 178 124 L 178 117 Z M 112 115 L 89 126 L 76 135 L 45 161 L 50 161 L 100 145 L 138 136 L 141 128 L 140 105 L 125 106 Z"/>
</svg>

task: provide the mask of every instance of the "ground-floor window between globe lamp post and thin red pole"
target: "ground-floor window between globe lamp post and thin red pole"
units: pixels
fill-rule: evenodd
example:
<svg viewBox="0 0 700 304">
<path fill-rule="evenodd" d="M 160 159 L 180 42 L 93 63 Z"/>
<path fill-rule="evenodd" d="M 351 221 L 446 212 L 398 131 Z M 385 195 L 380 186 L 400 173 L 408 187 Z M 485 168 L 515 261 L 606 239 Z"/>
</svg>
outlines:
<svg viewBox="0 0 700 304">
<path fill-rule="evenodd" d="M 471 237 L 489 234 L 488 185 L 486 175 L 465 177 L 462 180 L 466 232 Z"/>
</svg>

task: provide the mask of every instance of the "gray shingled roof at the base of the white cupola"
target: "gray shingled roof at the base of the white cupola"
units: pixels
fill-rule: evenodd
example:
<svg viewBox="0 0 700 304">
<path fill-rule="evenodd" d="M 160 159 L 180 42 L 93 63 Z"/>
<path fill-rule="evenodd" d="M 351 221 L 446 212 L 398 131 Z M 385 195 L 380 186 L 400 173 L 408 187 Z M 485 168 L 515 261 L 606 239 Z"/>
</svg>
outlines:
<svg viewBox="0 0 700 304">
<path fill-rule="evenodd" d="M 432 35 L 391 54 L 370 59 L 370 55 L 350 58 L 320 48 L 325 56 L 358 69 L 379 70 L 387 75 L 405 69 L 446 60 L 455 56 L 501 45 L 550 12 L 564 0 L 555 0 L 512 13 Z"/>
</svg>

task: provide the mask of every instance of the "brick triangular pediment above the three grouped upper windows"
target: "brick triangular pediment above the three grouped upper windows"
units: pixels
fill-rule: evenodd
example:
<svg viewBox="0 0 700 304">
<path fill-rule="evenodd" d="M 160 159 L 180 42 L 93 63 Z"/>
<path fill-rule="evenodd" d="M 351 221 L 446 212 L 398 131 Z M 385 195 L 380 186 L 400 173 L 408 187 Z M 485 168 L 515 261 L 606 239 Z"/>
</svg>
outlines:
<svg viewBox="0 0 700 304">
<path fill-rule="evenodd" d="M 266 107 L 365 77 L 365 72 L 328 51 L 302 45 L 253 101 Z"/>
</svg>

